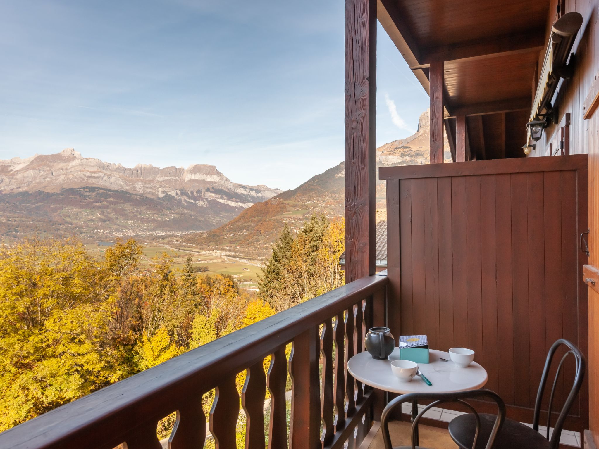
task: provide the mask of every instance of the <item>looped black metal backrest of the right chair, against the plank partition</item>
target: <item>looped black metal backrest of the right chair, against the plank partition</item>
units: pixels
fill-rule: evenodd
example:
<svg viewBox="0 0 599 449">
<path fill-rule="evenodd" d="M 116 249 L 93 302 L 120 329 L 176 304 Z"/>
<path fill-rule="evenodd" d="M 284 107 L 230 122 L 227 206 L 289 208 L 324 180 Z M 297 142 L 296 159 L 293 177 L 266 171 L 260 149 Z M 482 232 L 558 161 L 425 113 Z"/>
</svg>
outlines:
<svg viewBox="0 0 599 449">
<path fill-rule="evenodd" d="M 566 398 L 564 402 L 564 406 L 559 412 L 559 416 L 557 421 L 555 421 L 555 427 L 553 429 L 553 435 L 551 439 L 549 439 L 549 449 L 557 449 L 559 445 L 559 437 L 561 436 L 562 427 L 564 427 L 564 421 L 570 412 L 570 408 L 580 391 L 580 387 L 582 386 L 582 381 L 585 378 L 585 356 L 583 356 L 582 352 L 580 352 L 579 348 L 576 347 L 572 342 L 560 338 L 558 341 L 553 343 L 551 346 L 549 353 L 547 353 L 547 359 L 545 360 L 545 367 L 543 368 L 543 375 L 541 376 L 541 382 L 539 384 L 539 392 L 537 393 L 537 401 L 534 404 L 534 417 L 533 417 L 533 429 L 537 432 L 539 431 L 539 415 L 541 412 L 541 402 L 543 402 L 543 392 L 545 390 L 545 385 L 547 383 L 547 377 L 549 377 L 549 369 L 551 368 L 551 363 L 553 360 L 553 356 L 555 356 L 556 351 L 561 345 L 567 347 L 567 351 L 559 360 L 559 365 L 555 372 L 555 378 L 553 379 L 553 386 L 551 388 L 551 395 L 549 396 L 549 408 L 547 409 L 547 430 L 545 437 L 549 439 L 549 427 L 551 424 L 551 411 L 553 405 L 553 397 L 555 396 L 555 387 L 558 383 L 559 373 L 561 372 L 561 368 L 564 365 L 564 361 L 568 357 L 574 357 L 576 362 L 576 374 L 574 375 L 574 382 L 572 384 L 572 388 L 570 390 L 570 394 Z"/>
</svg>

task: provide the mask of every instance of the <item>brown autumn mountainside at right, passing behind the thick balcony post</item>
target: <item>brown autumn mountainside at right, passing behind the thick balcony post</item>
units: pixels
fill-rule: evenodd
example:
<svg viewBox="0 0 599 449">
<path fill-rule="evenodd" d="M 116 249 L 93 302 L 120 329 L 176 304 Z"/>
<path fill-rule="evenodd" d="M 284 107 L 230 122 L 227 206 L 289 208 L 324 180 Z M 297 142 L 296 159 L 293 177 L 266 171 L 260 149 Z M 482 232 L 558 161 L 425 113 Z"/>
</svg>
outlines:
<svg viewBox="0 0 599 449">
<path fill-rule="evenodd" d="M 449 144 L 444 142 L 444 158 L 451 160 Z M 377 148 L 377 167 L 420 165 L 429 162 L 429 113 L 420 114 L 415 134 Z M 257 203 L 239 216 L 208 232 L 184 237 L 187 244 L 206 249 L 222 249 L 244 255 L 268 257 L 277 233 L 287 223 L 298 230 L 311 214 L 330 218 L 344 215 L 345 164 L 316 175 L 293 190 L 279 193 Z M 384 181 L 376 184 L 377 208 L 386 207 Z"/>
</svg>

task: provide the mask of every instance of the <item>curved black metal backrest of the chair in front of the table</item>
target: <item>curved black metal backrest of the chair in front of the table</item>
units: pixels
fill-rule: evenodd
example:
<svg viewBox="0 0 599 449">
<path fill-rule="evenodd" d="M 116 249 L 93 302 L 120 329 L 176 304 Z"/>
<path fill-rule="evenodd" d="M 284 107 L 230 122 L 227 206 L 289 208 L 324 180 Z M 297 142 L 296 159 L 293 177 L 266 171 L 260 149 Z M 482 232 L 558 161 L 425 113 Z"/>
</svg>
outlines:
<svg viewBox="0 0 599 449">
<path fill-rule="evenodd" d="M 480 417 L 476 410 L 468 404 L 464 402 L 464 399 L 491 399 L 497 404 L 497 418 L 495 418 L 495 424 L 493 429 L 491 430 L 491 435 L 489 435 L 489 440 L 486 444 L 486 449 L 491 449 L 495 442 L 495 437 L 497 433 L 501 429 L 501 425 L 506 418 L 506 406 L 503 401 L 499 397 L 499 395 L 491 390 L 470 390 L 468 392 L 456 392 L 456 393 L 409 393 L 407 395 L 401 395 L 395 398 L 393 401 L 389 402 L 385 409 L 383 410 L 383 414 L 380 419 L 380 425 L 383 432 L 383 442 L 385 443 L 385 449 L 393 449 L 391 445 L 391 436 L 389 435 L 389 418 L 391 417 L 391 412 L 394 411 L 395 408 L 401 407 L 401 404 L 404 402 L 412 402 L 412 401 L 432 401 L 431 404 L 425 406 L 422 411 L 416 416 L 414 421 L 412 422 L 412 449 L 416 448 L 416 426 L 418 426 L 418 421 L 420 421 L 420 417 L 426 413 L 431 407 L 438 406 L 439 404 L 443 404 L 446 402 L 458 402 L 459 404 L 464 405 L 471 412 L 473 412 L 474 417 L 476 417 L 476 433 L 474 433 L 474 440 L 472 442 L 472 449 L 476 447 L 476 440 L 480 431 Z"/>
</svg>

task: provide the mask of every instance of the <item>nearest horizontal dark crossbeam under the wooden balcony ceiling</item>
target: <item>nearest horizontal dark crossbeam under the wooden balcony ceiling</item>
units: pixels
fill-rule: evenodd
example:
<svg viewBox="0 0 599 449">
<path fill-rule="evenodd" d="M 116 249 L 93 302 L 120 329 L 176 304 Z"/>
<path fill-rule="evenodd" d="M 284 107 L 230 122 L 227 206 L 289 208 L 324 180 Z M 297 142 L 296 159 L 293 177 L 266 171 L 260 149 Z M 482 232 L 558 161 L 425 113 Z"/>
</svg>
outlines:
<svg viewBox="0 0 599 449">
<path fill-rule="evenodd" d="M 422 51 L 420 64 L 429 64 L 433 61 L 452 61 L 458 59 L 485 59 L 489 57 L 506 56 L 509 54 L 526 53 L 528 51 L 540 52 L 544 45 L 544 30 L 528 31 L 523 34 L 511 35 L 489 41 L 476 41 L 442 45 Z"/>
</svg>

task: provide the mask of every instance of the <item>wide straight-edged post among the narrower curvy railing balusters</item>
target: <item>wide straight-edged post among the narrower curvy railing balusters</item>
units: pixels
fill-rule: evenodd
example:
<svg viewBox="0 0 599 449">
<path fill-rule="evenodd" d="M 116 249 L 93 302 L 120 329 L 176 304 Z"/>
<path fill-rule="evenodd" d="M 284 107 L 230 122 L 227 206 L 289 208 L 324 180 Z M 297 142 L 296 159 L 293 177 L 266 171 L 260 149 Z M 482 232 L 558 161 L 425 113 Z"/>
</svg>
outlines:
<svg viewBox="0 0 599 449">
<path fill-rule="evenodd" d="M 289 357 L 291 374 L 291 449 L 316 449 L 320 443 L 320 339 L 318 327 L 295 337 Z"/>
</svg>

